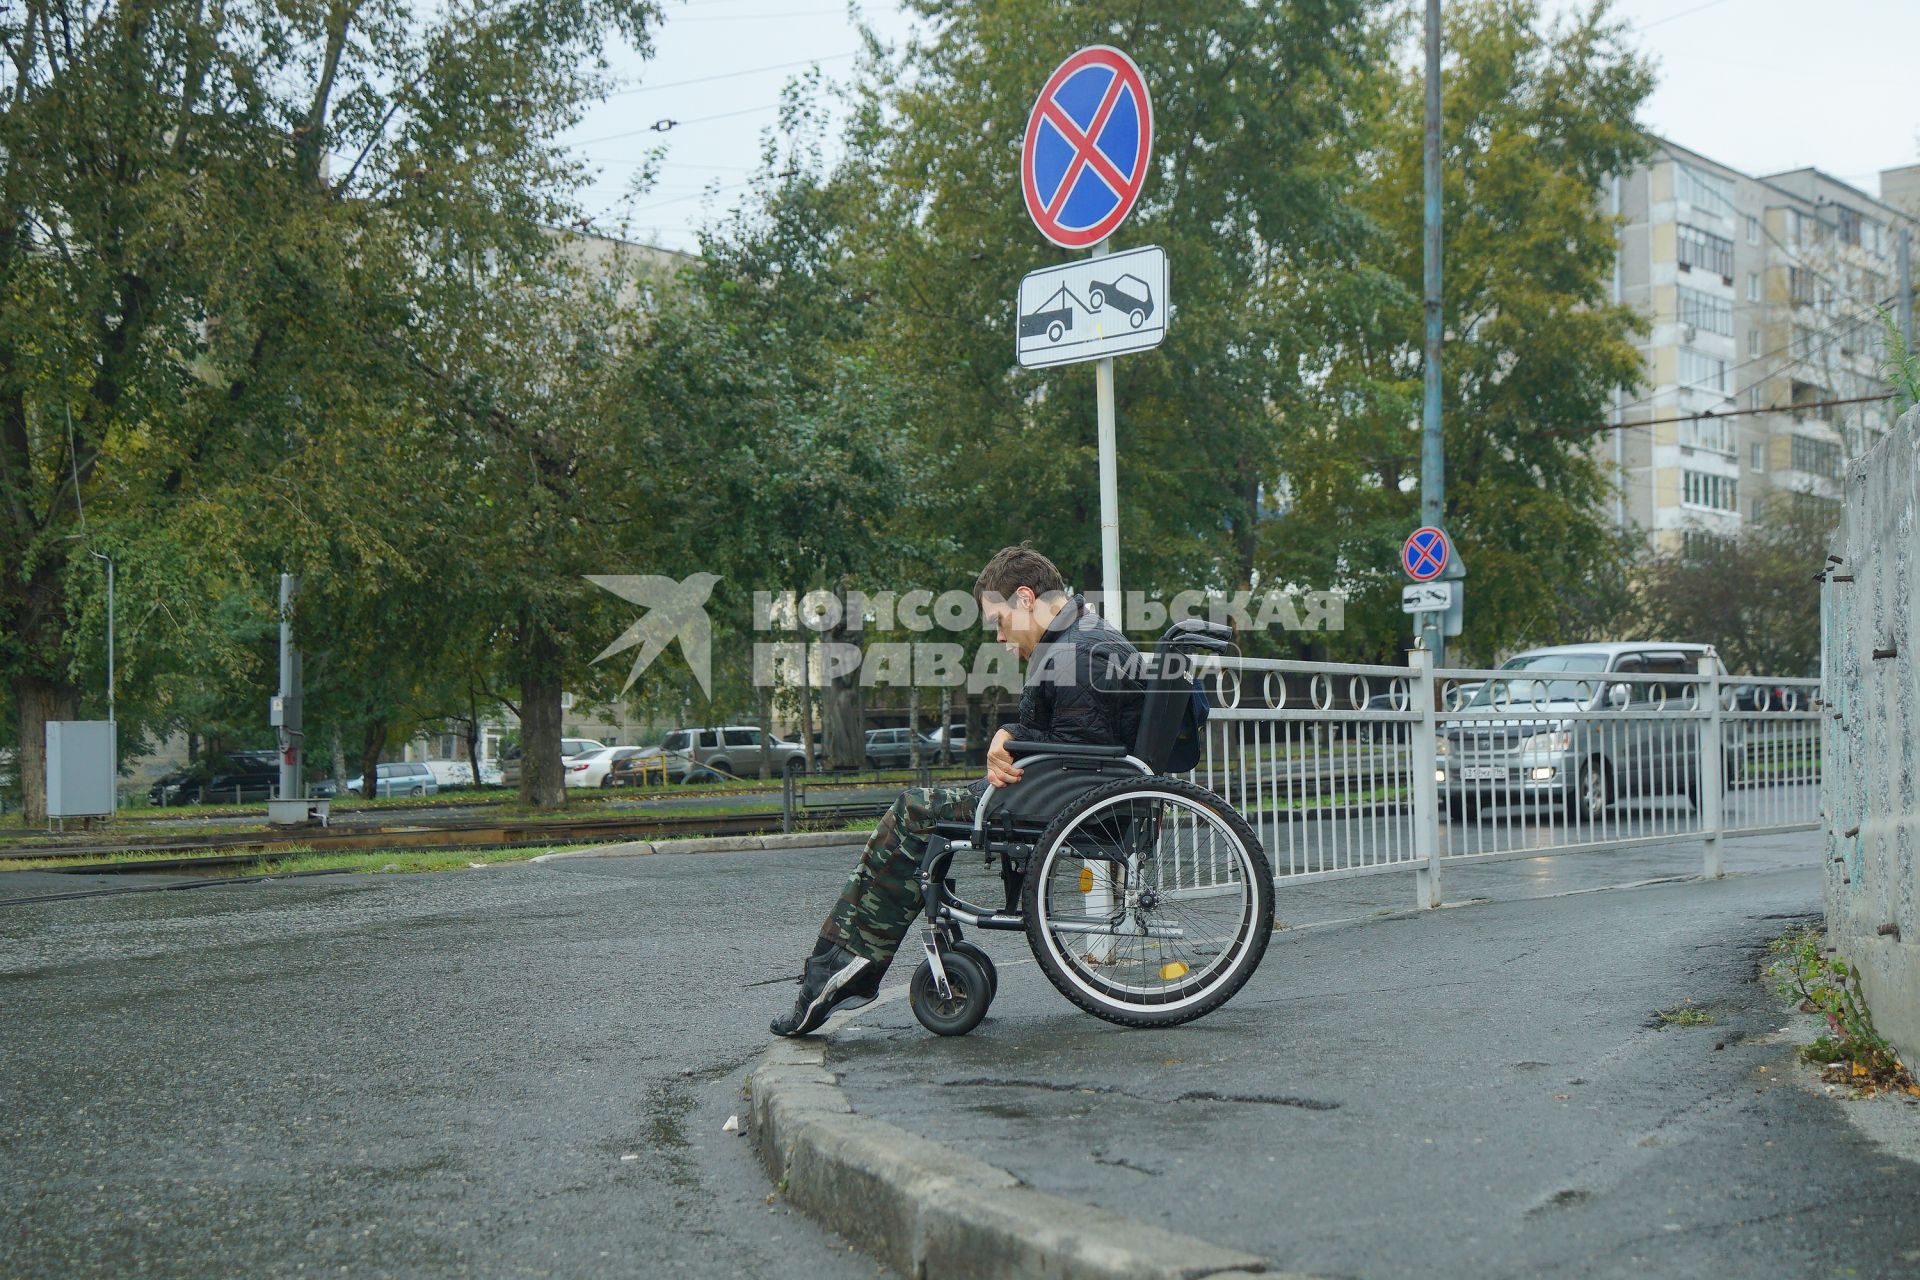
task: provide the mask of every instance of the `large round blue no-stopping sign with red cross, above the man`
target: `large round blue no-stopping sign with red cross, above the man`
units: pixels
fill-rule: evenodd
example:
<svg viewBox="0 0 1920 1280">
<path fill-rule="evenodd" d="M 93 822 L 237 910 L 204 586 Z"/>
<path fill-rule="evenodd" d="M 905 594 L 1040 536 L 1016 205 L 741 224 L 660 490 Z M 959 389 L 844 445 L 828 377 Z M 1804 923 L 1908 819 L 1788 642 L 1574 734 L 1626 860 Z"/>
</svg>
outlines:
<svg viewBox="0 0 1920 1280">
<path fill-rule="evenodd" d="M 1131 58 L 1091 44 L 1046 77 L 1020 154 L 1020 190 L 1041 234 L 1064 249 L 1100 244 L 1146 184 L 1154 104 Z"/>
</svg>

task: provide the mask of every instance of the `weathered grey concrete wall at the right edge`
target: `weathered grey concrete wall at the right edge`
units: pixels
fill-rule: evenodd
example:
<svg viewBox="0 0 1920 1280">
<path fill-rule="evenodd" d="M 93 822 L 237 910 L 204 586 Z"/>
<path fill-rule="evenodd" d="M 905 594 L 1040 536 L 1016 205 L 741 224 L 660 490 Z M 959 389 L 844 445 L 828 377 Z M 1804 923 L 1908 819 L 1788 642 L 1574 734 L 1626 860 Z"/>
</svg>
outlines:
<svg viewBox="0 0 1920 1280">
<path fill-rule="evenodd" d="M 1920 409 L 1845 484 L 1822 587 L 1826 927 L 1880 1032 L 1920 1063 Z"/>
</svg>

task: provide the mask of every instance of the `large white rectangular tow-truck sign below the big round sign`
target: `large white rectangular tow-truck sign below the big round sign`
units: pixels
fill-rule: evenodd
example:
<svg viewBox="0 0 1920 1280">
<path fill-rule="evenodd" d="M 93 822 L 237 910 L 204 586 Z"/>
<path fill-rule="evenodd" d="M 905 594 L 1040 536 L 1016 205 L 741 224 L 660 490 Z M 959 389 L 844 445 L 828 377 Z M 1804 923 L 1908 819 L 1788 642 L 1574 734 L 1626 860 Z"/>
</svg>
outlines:
<svg viewBox="0 0 1920 1280">
<path fill-rule="evenodd" d="M 1027 273 L 1014 313 L 1021 368 L 1158 347 L 1167 336 L 1167 251 L 1146 246 Z"/>
</svg>

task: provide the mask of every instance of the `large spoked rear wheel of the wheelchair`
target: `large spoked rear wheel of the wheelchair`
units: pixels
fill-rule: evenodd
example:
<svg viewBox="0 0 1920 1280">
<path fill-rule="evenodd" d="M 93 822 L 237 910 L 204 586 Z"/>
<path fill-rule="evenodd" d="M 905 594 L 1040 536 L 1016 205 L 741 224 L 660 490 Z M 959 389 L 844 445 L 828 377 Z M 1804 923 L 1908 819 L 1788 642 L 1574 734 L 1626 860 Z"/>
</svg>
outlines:
<svg viewBox="0 0 1920 1280">
<path fill-rule="evenodd" d="M 1175 777 L 1096 787 L 1035 844 L 1027 944 L 1048 981 L 1121 1027 L 1173 1027 L 1227 1004 L 1273 935 L 1260 839 Z"/>
</svg>

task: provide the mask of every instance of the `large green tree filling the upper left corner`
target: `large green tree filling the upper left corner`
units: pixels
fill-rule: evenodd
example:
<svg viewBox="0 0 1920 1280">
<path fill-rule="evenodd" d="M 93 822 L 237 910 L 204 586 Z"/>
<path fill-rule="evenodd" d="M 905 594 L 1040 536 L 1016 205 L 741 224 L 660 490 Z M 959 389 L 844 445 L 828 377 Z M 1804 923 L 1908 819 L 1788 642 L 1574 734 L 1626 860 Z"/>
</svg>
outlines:
<svg viewBox="0 0 1920 1280">
<path fill-rule="evenodd" d="M 384 493 L 323 509 L 313 466 L 430 420 L 426 342 L 461 326 L 465 269 L 549 251 L 540 225 L 580 177 L 557 136 L 601 92 L 605 42 L 645 46 L 655 17 L 649 0 L 0 15 L 0 677 L 29 818 L 42 725 L 88 676 L 86 551 L 123 566 L 129 614 L 167 622 L 154 666 L 129 668 L 136 714 L 169 654 L 236 660 L 204 601 L 265 597 L 300 558 L 292 530 L 323 528 L 361 576 L 407 560 L 417 541 L 355 528 Z"/>
</svg>

